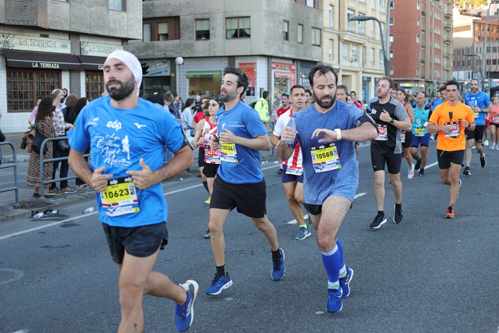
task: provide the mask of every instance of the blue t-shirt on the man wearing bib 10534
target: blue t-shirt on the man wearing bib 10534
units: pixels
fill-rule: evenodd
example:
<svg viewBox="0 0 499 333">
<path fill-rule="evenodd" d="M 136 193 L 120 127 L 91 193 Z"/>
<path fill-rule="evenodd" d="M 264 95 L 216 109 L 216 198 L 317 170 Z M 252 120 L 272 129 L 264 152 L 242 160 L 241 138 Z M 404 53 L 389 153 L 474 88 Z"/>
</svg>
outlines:
<svg viewBox="0 0 499 333">
<path fill-rule="evenodd" d="M 215 119 L 219 133 L 223 133 L 224 128 L 227 128 L 234 135 L 247 139 L 267 135 L 258 112 L 242 101 L 231 110 L 227 111 L 225 107 L 218 110 Z M 230 184 L 255 184 L 263 181 L 258 150 L 238 144 L 221 143 L 222 163 L 218 169 L 218 176 L 223 181 Z"/>
</svg>

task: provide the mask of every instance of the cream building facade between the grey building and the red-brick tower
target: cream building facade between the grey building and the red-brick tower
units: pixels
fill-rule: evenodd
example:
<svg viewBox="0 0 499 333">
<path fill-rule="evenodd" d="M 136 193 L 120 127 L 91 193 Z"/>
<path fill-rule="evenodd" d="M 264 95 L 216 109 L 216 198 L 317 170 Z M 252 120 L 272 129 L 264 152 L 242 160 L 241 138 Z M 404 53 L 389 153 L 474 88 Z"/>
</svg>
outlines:
<svg viewBox="0 0 499 333">
<path fill-rule="evenodd" d="M 338 72 L 338 84 L 355 91 L 367 102 L 385 74 L 379 24 L 375 20 L 350 21 L 352 16 L 372 16 L 386 34 L 386 0 L 321 0 L 324 17 L 323 61 Z M 386 38 L 384 38 L 386 41 Z"/>
</svg>

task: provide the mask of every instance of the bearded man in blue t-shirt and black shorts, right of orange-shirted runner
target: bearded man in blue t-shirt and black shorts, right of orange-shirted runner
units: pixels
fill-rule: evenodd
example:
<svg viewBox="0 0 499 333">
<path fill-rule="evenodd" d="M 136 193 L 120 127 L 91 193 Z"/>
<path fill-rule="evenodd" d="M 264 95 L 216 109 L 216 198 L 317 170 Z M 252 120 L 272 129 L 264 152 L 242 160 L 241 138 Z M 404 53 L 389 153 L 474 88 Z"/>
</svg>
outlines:
<svg viewBox="0 0 499 333">
<path fill-rule="evenodd" d="M 485 115 L 492 111 L 491 104 L 492 101 L 489 96 L 483 92 L 479 91 L 480 83 L 476 78 L 470 82 L 471 92 L 465 95 L 465 104 L 469 105 L 473 109 L 473 115 L 475 117 L 475 123 L 477 126 L 473 131 L 465 129 L 466 134 L 466 150 L 465 150 L 465 160 L 466 167 L 463 171 L 463 175 L 471 175 L 471 154 L 473 148 L 473 140 L 475 140 L 475 145 L 477 151 L 480 153 L 480 166 L 485 168 L 487 162 L 485 160 L 484 146 L 482 145 L 482 139 L 484 137 L 485 129 Z"/>
</svg>

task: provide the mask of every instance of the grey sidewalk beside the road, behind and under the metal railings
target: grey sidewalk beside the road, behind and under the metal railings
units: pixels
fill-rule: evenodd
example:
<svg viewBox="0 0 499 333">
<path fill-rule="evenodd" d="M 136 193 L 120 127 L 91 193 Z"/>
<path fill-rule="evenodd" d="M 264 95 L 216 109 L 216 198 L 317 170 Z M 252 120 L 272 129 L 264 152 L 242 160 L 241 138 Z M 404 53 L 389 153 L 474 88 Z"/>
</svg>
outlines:
<svg viewBox="0 0 499 333">
<path fill-rule="evenodd" d="M 24 132 L 17 133 L 4 133 L 6 136 L 5 141 L 12 142 L 16 150 L 16 158 L 18 167 L 21 166 L 27 170 L 27 163 L 29 162 L 29 153 L 24 149 L 20 149 L 20 144 L 22 142 L 22 135 Z M 2 145 L 1 151 L 3 153 L 2 165 L 13 162 L 13 154 L 9 145 Z M 272 156 L 273 150 L 263 151 L 263 157 L 265 160 L 272 161 L 276 158 L 275 153 Z M 189 179 L 201 177 L 199 168 L 198 168 L 198 149 L 195 149 L 193 152 L 194 155 L 194 163 L 190 167 L 189 171 L 184 171 L 180 175 L 169 179 L 167 182 L 178 182 L 180 178 Z M 5 173 L 10 172 L 12 168 L 0 169 L 0 171 L 4 171 Z M 88 201 L 92 202 L 95 206 L 95 192 L 92 189 L 77 189 L 75 193 L 66 193 L 60 196 L 54 196 L 50 199 L 39 199 L 33 198 L 32 193 L 33 189 L 28 188 L 26 186 L 26 175 L 25 172 L 17 172 L 17 180 L 19 186 L 19 202 L 20 208 L 14 209 L 13 202 L 15 202 L 14 191 L 0 193 L 0 195 L 8 195 L 9 197 L 14 197 L 10 203 L 0 204 L 0 223 L 6 223 L 18 219 L 27 218 L 33 216 L 39 212 L 45 212 L 47 210 L 55 210 L 60 209 L 61 207 L 67 207 L 73 203 L 82 203 Z M 71 169 L 69 169 L 69 174 L 72 174 Z M 11 181 L 11 183 L 10 183 Z M 74 180 L 68 181 L 70 184 L 74 182 Z M 3 186 L 11 187 L 14 186 L 13 178 L 10 178 L 8 184 L 3 183 Z M 72 186 L 74 187 L 74 186 Z"/>
</svg>

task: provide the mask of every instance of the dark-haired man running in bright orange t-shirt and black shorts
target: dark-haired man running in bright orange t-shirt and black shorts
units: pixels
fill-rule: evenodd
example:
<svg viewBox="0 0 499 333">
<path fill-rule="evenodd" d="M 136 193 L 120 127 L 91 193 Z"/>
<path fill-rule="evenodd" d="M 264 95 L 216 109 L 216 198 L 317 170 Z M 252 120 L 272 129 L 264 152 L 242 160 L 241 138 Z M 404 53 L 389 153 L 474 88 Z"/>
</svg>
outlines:
<svg viewBox="0 0 499 333">
<path fill-rule="evenodd" d="M 428 132 L 439 132 L 437 138 L 437 160 L 444 184 L 450 185 L 449 207 L 445 218 L 454 218 L 454 205 L 459 195 L 459 174 L 466 148 L 465 128 L 473 131 L 473 110 L 458 101 L 459 83 L 455 80 L 445 84 L 447 101 L 438 105 L 428 121 Z"/>
</svg>

